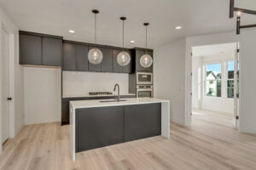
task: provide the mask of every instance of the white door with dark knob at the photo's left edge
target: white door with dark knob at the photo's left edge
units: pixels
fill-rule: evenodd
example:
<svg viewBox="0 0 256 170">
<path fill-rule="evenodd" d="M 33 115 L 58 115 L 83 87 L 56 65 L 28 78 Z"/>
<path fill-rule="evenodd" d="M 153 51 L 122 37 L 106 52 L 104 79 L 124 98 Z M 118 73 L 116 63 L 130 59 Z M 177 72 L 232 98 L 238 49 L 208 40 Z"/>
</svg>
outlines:
<svg viewBox="0 0 256 170">
<path fill-rule="evenodd" d="M 9 38 L 2 29 L 1 57 L 1 113 L 2 113 L 2 143 L 9 139 Z"/>
</svg>

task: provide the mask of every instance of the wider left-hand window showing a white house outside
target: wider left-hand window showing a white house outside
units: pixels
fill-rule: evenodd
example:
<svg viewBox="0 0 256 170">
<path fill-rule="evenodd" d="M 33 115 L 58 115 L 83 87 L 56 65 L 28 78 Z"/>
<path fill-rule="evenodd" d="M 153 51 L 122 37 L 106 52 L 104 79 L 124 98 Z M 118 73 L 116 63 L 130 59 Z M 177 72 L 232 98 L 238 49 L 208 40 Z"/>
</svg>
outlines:
<svg viewBox="0 0 256 170">
<path fill-rule="evenodd" d="M 206 65 L 206 95 L 221 97 L 221 63 Z"/>
</svg>

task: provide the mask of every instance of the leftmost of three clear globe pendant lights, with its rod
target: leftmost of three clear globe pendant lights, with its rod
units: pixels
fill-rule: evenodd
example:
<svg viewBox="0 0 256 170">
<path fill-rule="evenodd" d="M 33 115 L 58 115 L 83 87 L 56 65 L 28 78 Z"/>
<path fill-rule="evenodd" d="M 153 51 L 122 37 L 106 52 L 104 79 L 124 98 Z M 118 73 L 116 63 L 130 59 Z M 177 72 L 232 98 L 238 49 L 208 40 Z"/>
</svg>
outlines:
<svg viewBox="0 0 256 170">
<path fill-rule="evenodd" d="M 98 14 L 99 11 L 96 9 L 93 9 L 91 12 L 95 14 L 94 42 L 96 44 L 96 14 Z M 88 60 L 90 61 L 91 64 L 98 65 L 102 62 L 102 59 L 103 59 L 103 54 L 99 48 L 91 48 L 90 51 L 88 52 Z"/>
</svg>

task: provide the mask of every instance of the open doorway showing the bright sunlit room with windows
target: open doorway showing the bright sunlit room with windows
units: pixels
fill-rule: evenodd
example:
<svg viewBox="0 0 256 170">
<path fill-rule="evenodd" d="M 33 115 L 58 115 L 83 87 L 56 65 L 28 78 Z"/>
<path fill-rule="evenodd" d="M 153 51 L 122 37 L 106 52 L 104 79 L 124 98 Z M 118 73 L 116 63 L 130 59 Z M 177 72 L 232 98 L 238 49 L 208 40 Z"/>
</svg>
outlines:
<svg viewBox="0 0 256 170">
<path fill-rule="evenodd" d="M 192 122 L 238 129 L 239 46 L 192 47 Z"/>
</svg>

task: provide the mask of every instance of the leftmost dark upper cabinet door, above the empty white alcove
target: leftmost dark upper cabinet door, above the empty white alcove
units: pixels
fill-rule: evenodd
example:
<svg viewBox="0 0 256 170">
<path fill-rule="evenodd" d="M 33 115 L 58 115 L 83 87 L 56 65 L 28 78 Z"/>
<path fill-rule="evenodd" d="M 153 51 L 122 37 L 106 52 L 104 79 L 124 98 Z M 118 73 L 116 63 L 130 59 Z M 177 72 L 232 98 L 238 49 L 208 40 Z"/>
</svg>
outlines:
<svg viewBox="0 0 256 170">
<path fill-rule="evenodd" d="M 20 65 L 42 65 L 41 37 L 20 34 Z"/>
</svg>

